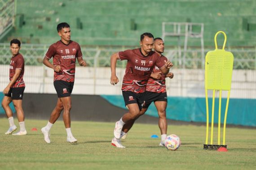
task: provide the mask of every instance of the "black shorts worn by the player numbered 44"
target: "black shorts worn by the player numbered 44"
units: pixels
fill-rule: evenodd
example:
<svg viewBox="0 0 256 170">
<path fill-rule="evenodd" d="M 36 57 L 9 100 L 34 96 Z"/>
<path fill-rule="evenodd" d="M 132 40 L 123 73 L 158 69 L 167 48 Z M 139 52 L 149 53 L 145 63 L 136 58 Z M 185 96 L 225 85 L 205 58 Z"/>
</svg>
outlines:
<svg viewBox="0 0 256 170">
<path fill-rule="evenodd" d="M 139 106 L 139 109 L 141 110 L 143 104 L 144 104 L 144 98 L 145 93 L 134 93 L 130 91 L 123 91 L 123 97 L 124 97 L 124 103 L 125 106 L 132 103 L 137 103 Z"/>
</svg>

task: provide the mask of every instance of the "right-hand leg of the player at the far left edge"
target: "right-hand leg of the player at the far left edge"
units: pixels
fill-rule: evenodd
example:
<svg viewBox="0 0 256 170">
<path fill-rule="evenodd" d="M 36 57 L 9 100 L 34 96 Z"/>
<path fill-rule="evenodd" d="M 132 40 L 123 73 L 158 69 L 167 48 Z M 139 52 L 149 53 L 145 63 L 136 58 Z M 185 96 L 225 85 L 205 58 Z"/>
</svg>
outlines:
<svg viewBox="0 0 256 170">
<path fill-rule="evenodd" d="M 17 118 L 20 125 L 20 131 L 17 133 L 14 133 L 13 135 L 26 135 L 25 121 L 24 121 L 25 116 L 22 108 L 22 100 L 13 100 L 13 105 L 17 112 Z"/>
</svg>

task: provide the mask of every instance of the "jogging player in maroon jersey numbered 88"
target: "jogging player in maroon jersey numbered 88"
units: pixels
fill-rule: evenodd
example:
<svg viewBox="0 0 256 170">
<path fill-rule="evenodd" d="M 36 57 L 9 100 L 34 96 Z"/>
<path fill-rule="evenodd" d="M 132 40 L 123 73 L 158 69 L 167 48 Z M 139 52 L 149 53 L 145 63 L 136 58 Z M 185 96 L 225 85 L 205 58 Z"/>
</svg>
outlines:
<svg viewBox="0 0 256 170">
<path fill-rule="evenodd" d="M 70 26 L 66 22 L 57 25 L 57 31 L 61 40 L 52 44 L 44 56 L 43 63 L 54 70 L 54 88 L 56 89 L 58 100 L 53 109 L 49 122 L 41 129 L 44 134 L 46 143 L 50 143 L 49 132 L 53 123 L 59 118 L 63 111 L 63 121 L 66 127 L 67 141 L 75 143 L 77 140 L 71 132 L 71 93 L 75 80 L 75 61 L 78 60 L 79 65 L 86 66 L 83 60 L 81 48 L 78 43 L 71 41 Z M 53 57 L 53 64 L 49 59 Z"/>
</svg>

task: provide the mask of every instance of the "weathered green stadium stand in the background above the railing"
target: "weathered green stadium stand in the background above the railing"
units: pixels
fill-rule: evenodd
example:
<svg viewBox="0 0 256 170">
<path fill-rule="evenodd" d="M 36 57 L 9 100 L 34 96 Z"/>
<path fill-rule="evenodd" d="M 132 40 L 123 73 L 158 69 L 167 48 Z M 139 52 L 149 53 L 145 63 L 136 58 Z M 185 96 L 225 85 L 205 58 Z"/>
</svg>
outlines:
<svg viewBox="0 0 256 170">
<path fill-rule="evenodd" d="M 54 42 L 57 23 L 66 21 L 82 45 L 134 46 L 142 32 L 161 36 L 162 22 L 197 22 L 204 24 L 206 47 L 213 46 L 218 30 L 229 37 L 227 47 L 255 46 L 255 6 L 255 0 L 17 0 L 15 30 L 4 42 L 13 37 L 23 43 Z M 188 45 L 200 46 L 200 41 Z"/>
</svg>

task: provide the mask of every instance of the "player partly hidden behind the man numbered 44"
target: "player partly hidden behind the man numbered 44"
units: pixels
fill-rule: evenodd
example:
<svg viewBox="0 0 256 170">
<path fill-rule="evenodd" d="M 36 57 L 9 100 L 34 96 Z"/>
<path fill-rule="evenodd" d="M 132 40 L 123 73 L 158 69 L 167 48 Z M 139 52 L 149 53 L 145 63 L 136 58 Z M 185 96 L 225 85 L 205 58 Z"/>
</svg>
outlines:
<svg viewBox="0 0 256 170">
<path fill-rule="evenodd" d="M 164 42 L 162 38 L 154 38 L 154 51 L 161 55 L 161 57 L 167 61 L 168 59 L 162 55 L 164 52 Z M 163 74 L 157 66 L 154 67 L 153 72 L 150 75 L 150 78 L 146 85 L 146 94 L 145 94 L 145 104 L 141 109 L 140 115 L 143 115 L 151 102 L 154 102 L 154 105 L 158 111 L 159 115 L 159 128 L 161 131 L 161 141 L 159 146 L 164 146 L 164 140 L 167 134 L 167 120 L 166 120 L 166 107 L 167 107 L 167 93 L 165 86 L 165 78 L 173 78 L 173 73 L 169 72 L 167 75 Z M 134 123 L 134 122 L 133 122 Z M 122 136 L 122 140 L 125 139 L 128 130 L 132 127 L 130 123 L 130 127 L 124 129 L 124 136 Z"/>
</svg>

